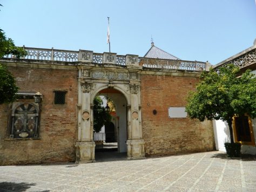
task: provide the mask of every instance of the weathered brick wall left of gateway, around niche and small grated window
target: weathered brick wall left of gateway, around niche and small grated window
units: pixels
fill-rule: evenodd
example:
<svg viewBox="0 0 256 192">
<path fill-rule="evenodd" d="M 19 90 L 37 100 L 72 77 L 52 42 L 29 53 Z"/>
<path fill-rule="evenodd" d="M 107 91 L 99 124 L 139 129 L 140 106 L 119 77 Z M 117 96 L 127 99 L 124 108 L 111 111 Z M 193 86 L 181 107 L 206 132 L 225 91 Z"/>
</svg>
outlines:
<svg viewBox="0 0 256 192">
<path fill-rule="evenodd" d="M 0 105 L 0 164 L 26 164 L 75 161 L 77 140 L 78 70 L 9 67 L 19 91 L 43 94 L 39 137 L 6 139 L 8 105 Z M 54 104 L 55 90 L 67 91 L 64 105 Z"/>
</svg>

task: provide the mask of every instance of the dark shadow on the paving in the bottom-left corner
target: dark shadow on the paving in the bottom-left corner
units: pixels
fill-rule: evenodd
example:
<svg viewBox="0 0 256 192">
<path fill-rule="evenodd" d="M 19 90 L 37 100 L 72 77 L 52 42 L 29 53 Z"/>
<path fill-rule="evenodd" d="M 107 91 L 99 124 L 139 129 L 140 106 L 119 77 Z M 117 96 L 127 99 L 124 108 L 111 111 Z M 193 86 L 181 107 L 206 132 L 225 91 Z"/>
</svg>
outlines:
<svg viewBox="0 0 256 192">
<path fill-rule="evenodd" d="M 0 182 L 0 191 L 16 191 L 22 192 L 31 188 L 31 186 L 35 186 L 35 183 L 14 183 L 14 182 Z M 41 192 L 48 192 L 49 190 L 44 190 Z"/>
</svg>

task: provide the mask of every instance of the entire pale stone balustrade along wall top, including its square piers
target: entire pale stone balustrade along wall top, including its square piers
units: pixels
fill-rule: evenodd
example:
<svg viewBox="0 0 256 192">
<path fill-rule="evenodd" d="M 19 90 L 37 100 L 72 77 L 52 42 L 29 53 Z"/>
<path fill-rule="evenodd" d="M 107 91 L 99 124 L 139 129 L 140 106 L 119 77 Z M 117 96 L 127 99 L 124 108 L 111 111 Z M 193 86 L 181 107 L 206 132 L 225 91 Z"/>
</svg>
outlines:
<svg viewBox="0 0 256 192">
<path fill-rule="evenodd" d="M 96 64 L 112 65 L 134 65 L 146 68 L 161 68 L 166 70 L 186 70 L 186 71 L 208 71 L 208 63 L 200 61 L 154 59 L 138 57 L 138 55 L 126 54 L 126 56 L 117 55 L 116 53 L 94 53 L 93 51 L 79 50 L 57 50 L 57 49 L 40 49 L 25 47 L 28 54 L 22 59 L 32 60 L 49 60 L 64 62 L 84 62 Z M 4 58 L 15 58 L 11 54 Z"/>
</svg>

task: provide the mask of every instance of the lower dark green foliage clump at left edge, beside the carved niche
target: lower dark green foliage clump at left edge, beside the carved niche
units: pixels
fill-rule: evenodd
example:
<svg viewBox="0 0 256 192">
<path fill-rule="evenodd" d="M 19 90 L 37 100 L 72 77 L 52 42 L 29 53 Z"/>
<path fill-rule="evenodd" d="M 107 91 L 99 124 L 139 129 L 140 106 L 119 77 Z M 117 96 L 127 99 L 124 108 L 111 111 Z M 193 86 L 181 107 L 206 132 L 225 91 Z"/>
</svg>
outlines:
<svg viewBox="0 0 256 192">
<path fill-rule="evenodd" d="M 6 66 L 0 64 L 0 104 L 14 101 L 17 92 L 18 87 L 15 84 L 14 77 Z"/>
</svg>

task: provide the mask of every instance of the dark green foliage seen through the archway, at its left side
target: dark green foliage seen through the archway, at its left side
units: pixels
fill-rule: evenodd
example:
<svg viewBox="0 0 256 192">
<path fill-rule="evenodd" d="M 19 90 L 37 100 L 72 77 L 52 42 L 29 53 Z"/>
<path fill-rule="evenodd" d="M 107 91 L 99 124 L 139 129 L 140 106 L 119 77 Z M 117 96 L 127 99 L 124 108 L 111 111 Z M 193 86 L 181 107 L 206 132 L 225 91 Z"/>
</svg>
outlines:
<svg viewBox="0 0 256 192">
<path fill-rule="evenodd" d="M 100 132 L 102 126 L 111 121 L 111 115 L 105 111 L 105 107 L 102 106 L 102 99 L 97 96 L 93 100 L 93 130 Z"/>
</svg>

